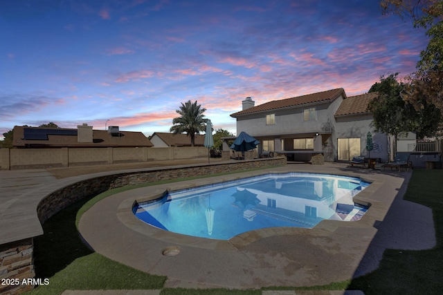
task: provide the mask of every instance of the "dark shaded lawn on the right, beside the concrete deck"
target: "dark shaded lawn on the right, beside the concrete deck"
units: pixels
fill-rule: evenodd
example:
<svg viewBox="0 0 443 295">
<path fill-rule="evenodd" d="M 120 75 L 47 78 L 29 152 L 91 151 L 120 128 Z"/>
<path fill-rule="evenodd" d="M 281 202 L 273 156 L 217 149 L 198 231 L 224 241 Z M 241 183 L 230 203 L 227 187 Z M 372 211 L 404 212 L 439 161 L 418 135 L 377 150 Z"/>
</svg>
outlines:
<svg viewBox="0 0 443 295">
<path fill-rule="evenodd" d="M 365 294 L 441 294 L 443 289 L 443 170 L 416 169 L 404 200 L 424 204 L 433 211 L 437 245 L 411 251 L 387 249 L 380 267 L 352 280 L 348 289 Z"/>
</svg>

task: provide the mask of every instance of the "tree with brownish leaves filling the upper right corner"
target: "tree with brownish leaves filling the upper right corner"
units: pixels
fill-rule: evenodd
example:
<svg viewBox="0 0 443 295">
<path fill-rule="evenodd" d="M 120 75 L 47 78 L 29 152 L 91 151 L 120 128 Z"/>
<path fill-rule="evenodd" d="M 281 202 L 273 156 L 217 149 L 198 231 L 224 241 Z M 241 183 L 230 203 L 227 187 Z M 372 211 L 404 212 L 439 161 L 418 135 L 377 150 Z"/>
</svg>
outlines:
<svg viewBox="0 0 443 295">
<path fill-rule="evenodd" d="M 381 0 L 380 5 L 383 14 L 410 17 L 415 28 L 426 29 L 429 42 L 420 53 L 417 71 L 408 76 L 403 98 L 417 110 L 433 104 L 443 113 L 443 1 Z"/>
</svg>

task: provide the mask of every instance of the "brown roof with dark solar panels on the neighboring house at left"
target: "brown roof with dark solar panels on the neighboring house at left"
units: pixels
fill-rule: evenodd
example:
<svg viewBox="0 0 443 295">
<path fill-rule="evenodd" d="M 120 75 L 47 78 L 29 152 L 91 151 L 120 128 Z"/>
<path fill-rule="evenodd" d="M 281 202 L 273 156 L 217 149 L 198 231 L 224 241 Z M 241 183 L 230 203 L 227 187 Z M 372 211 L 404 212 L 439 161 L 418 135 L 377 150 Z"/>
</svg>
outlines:
<svg viewBox="0 0 443 295">
<path fill-rule="evenodd" d="M 26 130 L 26 136 L 25 136 Z M 32 132 L 39 132 L 30 137 Z M 109 135 L 106 130 L 93 130 L 93 142 L 78 142 L 77 129 L 44 129 L 39 127 L 15 126 L 13 146 L 17 147 L 111 147 L 111 146 L 154 146 L 141 132 L 120 131 L 120 137 Z M 54 134 L 55 133 L 55 134 Z M 37 139 L 28 139 L 37 138 Z"/>
</svg>

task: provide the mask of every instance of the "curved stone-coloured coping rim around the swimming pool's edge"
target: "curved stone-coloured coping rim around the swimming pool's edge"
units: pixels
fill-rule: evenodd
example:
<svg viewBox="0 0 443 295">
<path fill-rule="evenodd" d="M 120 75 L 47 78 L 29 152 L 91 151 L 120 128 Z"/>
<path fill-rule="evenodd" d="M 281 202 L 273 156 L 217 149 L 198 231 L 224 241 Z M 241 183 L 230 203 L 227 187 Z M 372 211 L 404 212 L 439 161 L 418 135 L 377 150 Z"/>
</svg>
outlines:
<svg viewBox="0 0 443 295">
<path fill-rule="evenodd" d="M 215 180 L 213 180 L 213 178 L 206 178 L 205 180 L 200 180 L 199 182 L 191 180 L 191 181 L 175 182 L 173 184 L 171 183 L 158 184 L 154 187 L 139 188 L 136 189 L 137 190 L 136 194 L 140 195 L 140 197 L 127 198 L 123 202 L 121 202 L 117 209 L 117 216 L 118 219 L 124 225 L 129 227 L 129 229 L 137 231 L 138 233 L 143 234 L 145 236 L 154 237 L 156 239 L 163 240 L 165 242 L 172 242 L 178 245 L 187 245 L 187 246 L 199 247 L 204 249 L 217 249 L 222 251 L 237 251 L 237 249 L 249 245 L 252 242 L 270 236 L 280 236 L 285 234 L 307 234 L 307 231 L 309 232 L 312 231 L 313 229 L 319 229 L 320 231 L 326 231 L 326 232 L 334 231 L 336 230 L 337 227 L 341 226 L 341 222 L 356 222 L 356 221 L 342 221 L 342 220 L 322 220 L 315 227 L 311 229 L 300 228 L 300 227 L 268 227 L 264 229 L 255 229 L 253 231 L 247 231 L 243 234 L 234 236 L 233 238 L 230 238 L 228 240 L 219 240 L 211 238 L 201 238 L 197 236 L 187 236 L 184 234 L 177 234 L 172 231 L 165 231 L 163 229 L 159 229 L 137 218 L 133 211 L 134 205 L 136 203 L 156 200 L 158 198 L 161 198 L 162 196 L 165 196 L 165 193 L 168 193 L 168 191 L 180 191 L 183 189 L 190 189 L 192 187 L 204 187 L 205 185 L 208 184 L 218 184 L 222 182 L 229 182 L 233 180 L 251 178 L 255 176 L 272 174 L 272 173 L 274 174 L 284 173 L 282 171 L 273 172 L 270 170 L 271 169 L 241 173 L 242 174 L 241 177 L 239 177 L 237 173 L 235 175 L 224 175 L 222 178 L 215 177 Z M 325 174 L 325 173 L 311 172 L 311 174 Z M 379 189 L 379 187 L 382 184 L 381 181 L 367 177 L 358 177 L 351 173 L 340 173 L 340 174 L 337 173 L 334 175 L 359 178 L 364 182 L 370 182 L 370 185 L 368 187 L 366 187 L 363 191 L 360 191 L 356 196 L 354 196 L 354 202 L 369 207 L 368 211 L 365 213 L 363 218 L 365 220 L 365 223 L 374 222 L 375 220 L 374 220 L 373 211 L 375 210 L 378 211 L 379 207 L 377 207 L 377 202 L 374 202 L 373 200 L 370 199 L 370 195 L 374 191 Z M 116 195 L 118 195 L 118 193 L 116 193 Z M 372 207 L 373 205 L 375 206 Z M 378 216 L 379 215 L 377 214 L 377 217 Z"/>
</svg>

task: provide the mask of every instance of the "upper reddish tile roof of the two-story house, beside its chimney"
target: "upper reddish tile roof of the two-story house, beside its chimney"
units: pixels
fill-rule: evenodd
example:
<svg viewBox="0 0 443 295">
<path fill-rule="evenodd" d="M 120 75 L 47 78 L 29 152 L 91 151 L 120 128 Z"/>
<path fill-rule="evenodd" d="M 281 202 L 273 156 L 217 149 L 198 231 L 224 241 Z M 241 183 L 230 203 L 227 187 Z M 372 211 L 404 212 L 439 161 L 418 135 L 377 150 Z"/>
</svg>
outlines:
<svg viewBox="0 0 443 295">
<path fill-rule="evenodd" d="M 308 95 L 302 95 L 298 97 L 290 97 L 287 99 L 273 100 L 271 102 L 265 102 L 264 104 L 260 104 L 260 106 L 253 106 L 252 108 L 248 108 L 246 110 L 233 113 L 230 116 L 237 117 L 240 115 L 259 113 L 262 111 L 272 111 L 278 108 L 296 107 L 296 106 L 302 106 L 303 104 L 312 104 L 316 102 L 329 102 L 336 99 L 340 95 L 343 95 L 343 98 L 346 97 L 346 93 L 343 88 L 336 88 L 328 91 L 311 93 Z"/>
</svg>

